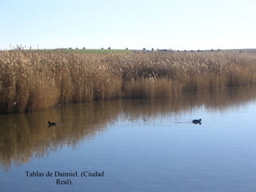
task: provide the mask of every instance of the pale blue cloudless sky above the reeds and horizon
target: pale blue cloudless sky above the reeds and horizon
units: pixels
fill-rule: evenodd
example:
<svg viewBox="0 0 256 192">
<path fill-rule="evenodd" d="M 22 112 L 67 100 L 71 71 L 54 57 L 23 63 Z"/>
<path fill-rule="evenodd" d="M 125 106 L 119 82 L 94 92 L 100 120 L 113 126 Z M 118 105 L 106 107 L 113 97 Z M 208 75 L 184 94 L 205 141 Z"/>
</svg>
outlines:
<svg viewBox="0 0 256 192">
<path fill-rule="evenodd" d="M 254 0 L 1 0 L 0 49 L 256 48 Z"/>
</svg>

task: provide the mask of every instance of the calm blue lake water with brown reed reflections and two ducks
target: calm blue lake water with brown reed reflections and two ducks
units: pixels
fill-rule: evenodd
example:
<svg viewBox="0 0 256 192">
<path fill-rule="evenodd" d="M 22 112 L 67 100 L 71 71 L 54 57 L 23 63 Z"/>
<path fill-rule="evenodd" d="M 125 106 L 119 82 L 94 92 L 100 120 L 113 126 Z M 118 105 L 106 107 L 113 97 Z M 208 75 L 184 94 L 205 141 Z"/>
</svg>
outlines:
<svg viewBox="0 0 256 192">
<path fill-rule="evenodd" d="M 255 98 L 233 89 L 0 115 L 0 191 L 254 192 Z"/>
</svg>

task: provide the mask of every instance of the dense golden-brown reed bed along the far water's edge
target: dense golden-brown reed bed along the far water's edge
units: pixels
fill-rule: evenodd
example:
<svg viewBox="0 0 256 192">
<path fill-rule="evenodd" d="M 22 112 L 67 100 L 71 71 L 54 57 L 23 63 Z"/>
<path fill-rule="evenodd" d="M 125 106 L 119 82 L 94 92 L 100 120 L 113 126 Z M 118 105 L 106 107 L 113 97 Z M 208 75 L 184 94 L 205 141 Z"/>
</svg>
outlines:
<svg viewBox="0 0 256 192">
<path fill-rule="evenodd" d="M 160 98 L 256 83 L 256 54 L 0 51 L 0 113 L 70 102 Z"/>
</svg>

